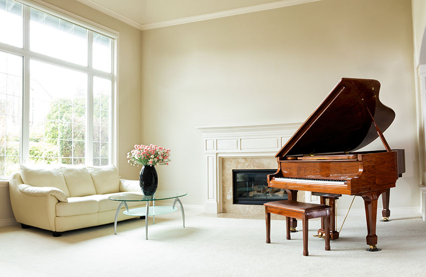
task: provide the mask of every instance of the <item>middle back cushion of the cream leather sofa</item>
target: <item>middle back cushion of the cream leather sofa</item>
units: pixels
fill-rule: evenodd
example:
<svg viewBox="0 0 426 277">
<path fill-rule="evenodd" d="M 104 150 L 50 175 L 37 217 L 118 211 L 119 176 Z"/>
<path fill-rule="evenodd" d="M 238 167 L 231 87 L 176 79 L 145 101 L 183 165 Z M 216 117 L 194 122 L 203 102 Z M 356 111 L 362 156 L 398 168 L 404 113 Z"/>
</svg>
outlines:
<svg viewBox="0 0 426 277">
<path fill-rule="evenodd" d="M 96 194 L 89 170 L 84 165 L 61 166 L 71 197 Z"/>
</svg>

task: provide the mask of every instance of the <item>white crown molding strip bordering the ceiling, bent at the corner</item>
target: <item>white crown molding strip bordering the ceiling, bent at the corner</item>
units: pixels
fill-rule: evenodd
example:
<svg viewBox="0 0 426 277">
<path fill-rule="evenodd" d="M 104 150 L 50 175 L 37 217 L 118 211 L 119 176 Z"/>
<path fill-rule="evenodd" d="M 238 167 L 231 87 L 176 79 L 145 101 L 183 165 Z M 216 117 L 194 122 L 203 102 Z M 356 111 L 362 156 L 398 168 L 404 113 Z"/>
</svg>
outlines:
<svg viewBox="0 0 426 277">
<path fill-rule="evenodd" d="M 77 1 L 82 2 L 83 4 L 88 5 L 92 8 L 94 8 L 94 9 L 97 9 L 97 10 L 99 10 L 99 11 L 101 11 L 101 12 L 103 12 L 103 13 L 111 16 L 111 17 L 114 17 L 118 20 L 121 20 L 121 21 L 135 27 L 135 28 L 138 28 L 140 30 L 149 30 L 149 29 L 156 29 L 156 28 L 180 25 L 180 24 L 197 22 L 197 21 L 203 21 L 203 20 L 239 15 L 239 14 L 244 14 L 244 13 L 280 8 L 280 7 L 286 7 L 286 6 L 293 6 L 293 5 L 299 5 L 299 4 L 304 4 L 304 3 L 310 3 L 310 2 L 317 2 L 317 1 L 321 1 L 321 0 L 279 0 L 279 1 L 274 1 L 274 2 L 270 2 L 270 3 L 263 3 L 263 4 L 257 4 L 257 5 L 221 10 L 221 11 L 217 11 L 217 12 L 209 12 L 209 13 L 198 14 L 198 15 L 193 15 L 193 16 L 186 16 L 186 17 L 181 17 L 181 18 L 163 20 L 163 21 L 158 21 L 158 22 L 149 23 L 149 24 L 140 24 L 140 23 L 138 23 L 138 22 L 136 22 L 136 21 L 114 11 L 114 10 L 111 10 L 111 9 L 101 5 L 101 4 L 98 4 L 98 3 L 96 3 L 92 0 L 77 0 Z"/>
</svg>

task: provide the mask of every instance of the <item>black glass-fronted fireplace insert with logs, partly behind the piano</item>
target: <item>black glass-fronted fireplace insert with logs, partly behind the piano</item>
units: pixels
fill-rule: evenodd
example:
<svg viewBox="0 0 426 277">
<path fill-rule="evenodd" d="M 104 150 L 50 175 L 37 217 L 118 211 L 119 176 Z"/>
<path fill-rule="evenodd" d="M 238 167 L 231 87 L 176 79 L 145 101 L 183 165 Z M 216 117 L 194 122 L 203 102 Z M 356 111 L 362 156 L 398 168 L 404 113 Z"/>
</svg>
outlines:
<svg viewBox="0 0 426 277">
<path fill-rule="evenodd" d="M 268 187 L 267 175 L 277 169 L 233 169 L 233 203 L 263 205 L 265 202 L 288 199 L 284 189 Z"/>
</svg>

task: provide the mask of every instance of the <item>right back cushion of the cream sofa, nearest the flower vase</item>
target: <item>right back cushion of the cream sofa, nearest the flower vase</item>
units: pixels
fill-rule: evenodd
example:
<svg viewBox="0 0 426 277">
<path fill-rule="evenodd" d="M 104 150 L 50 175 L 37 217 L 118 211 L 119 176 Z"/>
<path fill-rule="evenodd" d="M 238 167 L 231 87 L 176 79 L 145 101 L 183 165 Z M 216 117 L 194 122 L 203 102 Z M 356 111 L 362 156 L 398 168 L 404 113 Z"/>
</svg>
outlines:
<svg viewBox="0 0 426 277">
<path fill-rule="evenodd" d="M 113 165 L 87 166 L 95 184 L 96 194 L 119 192 L 120 176 Z"/>
</svg>

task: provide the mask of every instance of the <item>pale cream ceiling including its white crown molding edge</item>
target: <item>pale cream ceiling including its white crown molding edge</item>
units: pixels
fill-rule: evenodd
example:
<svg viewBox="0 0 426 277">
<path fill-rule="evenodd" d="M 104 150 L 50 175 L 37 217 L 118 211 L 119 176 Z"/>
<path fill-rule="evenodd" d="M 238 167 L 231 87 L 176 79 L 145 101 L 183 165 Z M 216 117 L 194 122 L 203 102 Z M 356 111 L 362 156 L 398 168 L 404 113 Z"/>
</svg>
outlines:
<svg viewBox="0 0 426 277">
<path fill-rule="evenodd" d="M 141 30 L 318 0 L 78 0 Z"/>
</svg>

